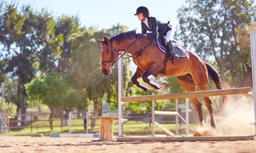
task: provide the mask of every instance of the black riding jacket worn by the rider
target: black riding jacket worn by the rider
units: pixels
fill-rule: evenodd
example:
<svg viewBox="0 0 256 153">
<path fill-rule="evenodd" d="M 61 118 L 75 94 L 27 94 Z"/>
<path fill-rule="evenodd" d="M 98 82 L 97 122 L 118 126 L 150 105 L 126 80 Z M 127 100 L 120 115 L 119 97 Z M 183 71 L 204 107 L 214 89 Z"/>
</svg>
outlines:
<svg viewBox="0 0 256 153">
<path fill-rule="evenodd" d="M 148 26 L 150 28 L 148 28 Z M 166 35 L 166 32 L 172 30 L 172 25 L 168 23 L 162 23 L 155 19 L 155 17 L 148 17 L 148 26 L 141 21 L 141 33 L 147 34 L 148 37 L 157 37 L 159 34 Z M 151 31 L 147 33 L 147 31 Z"/>
</svg>

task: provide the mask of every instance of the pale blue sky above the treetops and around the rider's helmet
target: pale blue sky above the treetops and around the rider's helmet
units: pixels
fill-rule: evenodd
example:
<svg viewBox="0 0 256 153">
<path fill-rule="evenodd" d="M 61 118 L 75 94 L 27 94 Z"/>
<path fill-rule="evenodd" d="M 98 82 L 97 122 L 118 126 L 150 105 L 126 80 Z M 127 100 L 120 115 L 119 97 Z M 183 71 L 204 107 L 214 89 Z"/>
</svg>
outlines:
<svg viewBox="0 0 256 153">
<path fill-rule="evenodd" d="M 5 0 L 10 2 L 10 0 Z M 186 0 L 146 1 L 146 0 L 16 0 L 20 4 L 30 4 L 34 9 L 47 8 L 54 16 L 78 15 L 81 26 L 112 28 L 112 25 L 126 25 L 128 30 L 137 28 L 140 30 L 140 21 L 134 16 L 138 6 L 146 6 L 150 10 L 150 16 L 166 23 L 170 21 L 173 27 L 179 24 L 176 10 L 185 4 Z"/>
</svg>

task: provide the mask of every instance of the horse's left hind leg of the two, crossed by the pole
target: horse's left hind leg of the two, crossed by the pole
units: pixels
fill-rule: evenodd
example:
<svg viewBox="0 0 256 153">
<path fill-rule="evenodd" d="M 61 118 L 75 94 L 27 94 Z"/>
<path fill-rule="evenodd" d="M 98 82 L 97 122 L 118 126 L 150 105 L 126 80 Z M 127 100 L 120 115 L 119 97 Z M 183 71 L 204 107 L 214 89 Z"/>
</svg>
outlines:
<svg viewBox="0 0 256 153">
<path fill-rule="evenodd" d="M 186 90 L 186 92 L 195 92 L 195 90 L 197 89 L 197 86 L 195 86 L 195 83 L 193 81 L 193 78 L 191 77 L 190 74 L 187 75 L 183 75 L 180 77 L 177 77 L 180 86 L 182 86 L 182 88 L 184 90 Z M 194 104 L 195 109 L 197 110 L 198 116 L 199 116 L 199 122 L 200 125 L 205 125 L 204 123 L 204 118 L 202 116 L 202 103 L 198 98 L 190 98 L 191 102 Z"/>
</svg>

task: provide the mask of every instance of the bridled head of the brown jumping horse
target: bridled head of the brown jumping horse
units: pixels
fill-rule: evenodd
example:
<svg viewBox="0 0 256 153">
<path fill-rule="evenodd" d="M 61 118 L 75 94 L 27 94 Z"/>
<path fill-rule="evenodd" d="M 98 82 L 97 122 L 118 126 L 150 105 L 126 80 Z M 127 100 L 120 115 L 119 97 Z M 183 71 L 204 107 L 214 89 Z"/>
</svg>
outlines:
<svg viewBox="0 0 256 153">
<path fill-rule="evenodd" d="M 109 38 L 104 37 L 104 40 L 95 41 L 101 43 L 101 71 L 105 75 L 111 74 L 111 67 L 116 63 L 119 56 L 118 50 L 113 48 Z"/>
</svg>

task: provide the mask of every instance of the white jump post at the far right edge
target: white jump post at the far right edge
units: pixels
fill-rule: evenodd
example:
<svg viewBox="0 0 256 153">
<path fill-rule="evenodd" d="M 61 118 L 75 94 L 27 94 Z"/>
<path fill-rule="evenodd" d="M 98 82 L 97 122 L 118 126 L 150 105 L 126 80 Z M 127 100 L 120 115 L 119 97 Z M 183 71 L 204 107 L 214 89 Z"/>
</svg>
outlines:
<svg viewBox="0 0 256 153">
<path fill-rule="evenodd" d="M 250 41 L 251 41 L 251 70 L 253 73 L 253 96 L 254 96 L 254 127 L 256 138 L 256 30 L 250 31 Z"/>
</svg>

